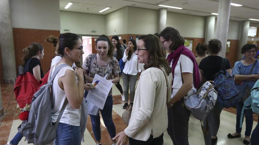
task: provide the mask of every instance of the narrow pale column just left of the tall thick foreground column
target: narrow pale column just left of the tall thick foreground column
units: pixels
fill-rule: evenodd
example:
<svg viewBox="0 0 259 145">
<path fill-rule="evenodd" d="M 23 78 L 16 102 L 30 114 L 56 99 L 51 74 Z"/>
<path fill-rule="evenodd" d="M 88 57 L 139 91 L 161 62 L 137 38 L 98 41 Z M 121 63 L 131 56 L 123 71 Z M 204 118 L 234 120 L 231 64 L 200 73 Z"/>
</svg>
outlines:
<svg viewBox="0 0 259 145">
<path fill-rule="evenodd" d="M 216 18 L 216 16 L 207 16 L 206 17 L 205 44 L 207 44 L 211 39 L 213 39 L 215 18 Z"/>
</svg>

